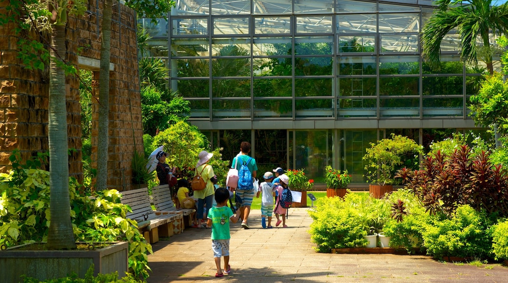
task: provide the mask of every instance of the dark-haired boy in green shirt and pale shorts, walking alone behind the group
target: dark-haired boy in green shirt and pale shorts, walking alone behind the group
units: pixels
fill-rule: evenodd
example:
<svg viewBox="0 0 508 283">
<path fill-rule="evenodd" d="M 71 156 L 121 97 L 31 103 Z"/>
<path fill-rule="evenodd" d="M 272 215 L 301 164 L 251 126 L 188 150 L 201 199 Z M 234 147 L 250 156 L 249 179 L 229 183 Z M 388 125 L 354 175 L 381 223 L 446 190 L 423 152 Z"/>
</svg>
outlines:
<svg viewBox="0 0 508 283">
<path fill-rule="evenodd" d="M 232 209 L 228 207 L 229 191 L 226 188 L 218 188 L 215 190 L 215 201 L 217 206 L 210 208 L 208 211 L 207 228 L 212 228 L 212 250 L 217 273 L 215 277 L 222 277 L 224 273 L 228 275 L 231 272 L 229 265 L 229 221 L 236 223 L 240 219 L 240 210 L 235 211 L 233 215 Z M 224 272 L 220 268 L 220 257 L 224 257 Z"/>
</svg>

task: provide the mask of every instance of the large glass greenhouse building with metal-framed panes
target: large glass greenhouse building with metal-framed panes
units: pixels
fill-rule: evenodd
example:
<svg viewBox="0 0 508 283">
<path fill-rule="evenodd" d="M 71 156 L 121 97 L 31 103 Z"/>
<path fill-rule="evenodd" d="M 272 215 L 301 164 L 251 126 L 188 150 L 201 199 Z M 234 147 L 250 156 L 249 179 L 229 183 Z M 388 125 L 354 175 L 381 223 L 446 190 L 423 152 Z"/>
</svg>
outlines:
<svg viewBox="0 0 508 283">
<path fill-rule="evenodd" d="M 474 129 L 481 77 L 459 62 L 459 37 L 443 39 L 439 68 L 422 60 L 432 11 L 427 0 L 177 0 L 168 20 L 140 22 L 147 56 L 167 62 L 188 121 L 223 159 L 247 140 L 259 171 L 305 168 L 324 187 L 332 165 L 365 186 L 370 143 L 396 133 L 428 146 Z"/>
</svg>

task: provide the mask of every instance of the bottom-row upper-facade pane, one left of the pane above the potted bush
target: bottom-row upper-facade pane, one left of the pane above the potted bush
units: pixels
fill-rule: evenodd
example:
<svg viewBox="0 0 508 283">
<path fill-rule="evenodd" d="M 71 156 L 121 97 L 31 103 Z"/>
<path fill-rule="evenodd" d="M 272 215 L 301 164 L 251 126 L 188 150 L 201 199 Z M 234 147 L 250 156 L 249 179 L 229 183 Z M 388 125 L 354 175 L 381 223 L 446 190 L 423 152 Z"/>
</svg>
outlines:
<svg viewBox="0 0 508 283">
<path fill-rule="evenodd" d="M 338 99 L 338 117 L 376 117 L 375 98 L 340 98 Z"/>
</svg>

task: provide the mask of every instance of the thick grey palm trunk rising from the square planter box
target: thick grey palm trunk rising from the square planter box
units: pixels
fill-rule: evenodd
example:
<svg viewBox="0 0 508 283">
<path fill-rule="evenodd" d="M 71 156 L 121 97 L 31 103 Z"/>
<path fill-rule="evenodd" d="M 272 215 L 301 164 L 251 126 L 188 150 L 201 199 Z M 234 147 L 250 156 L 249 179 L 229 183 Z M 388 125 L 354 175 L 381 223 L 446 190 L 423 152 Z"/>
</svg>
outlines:
<svg viewBox="0 0 508 283">
<path fill-rule="evenodd" d="M 49 73 L 49 186 L 51 222 L 48 232 L 49 249 L 76 247 L 69 200 L 69 155 L 67 139 L 67 108 L 65 73 L 56 61 L 65 57 L 65 25 L 53 25 L 51 65 Z"/>
</svg>

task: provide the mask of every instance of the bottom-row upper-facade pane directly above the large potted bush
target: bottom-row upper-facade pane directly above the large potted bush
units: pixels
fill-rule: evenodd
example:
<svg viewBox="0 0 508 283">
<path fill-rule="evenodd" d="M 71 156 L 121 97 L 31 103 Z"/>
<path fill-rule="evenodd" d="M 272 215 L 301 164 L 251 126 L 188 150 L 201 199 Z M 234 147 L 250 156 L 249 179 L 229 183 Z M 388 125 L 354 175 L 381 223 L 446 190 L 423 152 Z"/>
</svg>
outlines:
<svg viewBox="0 0 508 283">
<path fill-rule="evenodd" d="M 420 98 L 380 98 L 379 117 L 419 117 Z"/>
</svg>

